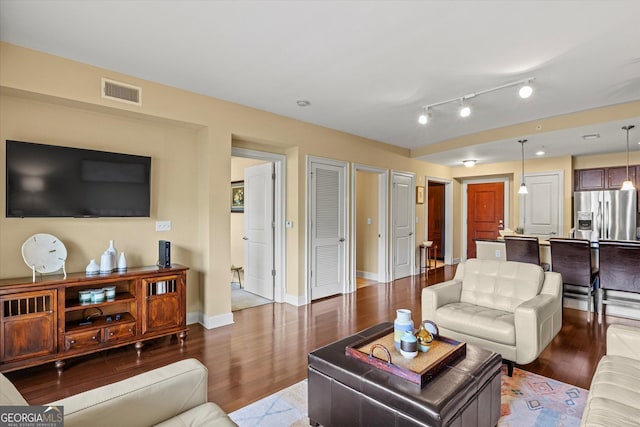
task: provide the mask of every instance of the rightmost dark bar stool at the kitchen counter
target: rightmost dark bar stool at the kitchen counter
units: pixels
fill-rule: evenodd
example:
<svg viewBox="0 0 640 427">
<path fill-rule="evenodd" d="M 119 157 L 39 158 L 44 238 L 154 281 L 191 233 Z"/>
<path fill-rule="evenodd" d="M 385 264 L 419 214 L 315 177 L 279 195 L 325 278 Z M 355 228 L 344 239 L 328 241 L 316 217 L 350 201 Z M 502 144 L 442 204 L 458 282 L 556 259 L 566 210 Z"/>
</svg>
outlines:
<svg viewBox="0 0 640 427">
<path fill-rule="evenodd" d="M 605 314 L 605 304 L 640 307 L 639 299 L 620 296 L 623 292 L 640 294 L 640 242 L 600 240 L 599 252 L 599 314 Z M 609 296 L 608 291 L 620 293 Z"/>
</svg>

